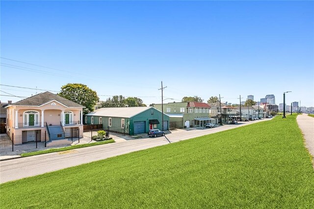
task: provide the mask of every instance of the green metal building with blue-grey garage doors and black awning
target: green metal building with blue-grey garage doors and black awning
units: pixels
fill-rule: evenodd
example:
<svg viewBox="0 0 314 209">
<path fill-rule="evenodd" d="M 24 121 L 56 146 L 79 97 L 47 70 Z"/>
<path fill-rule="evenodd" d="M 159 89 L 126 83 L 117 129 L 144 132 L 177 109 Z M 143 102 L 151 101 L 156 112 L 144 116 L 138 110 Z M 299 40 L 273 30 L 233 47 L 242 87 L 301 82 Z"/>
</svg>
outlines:
<svg viewBox="0 0 314 209">
<path fill-rule="evenodd" d="M 103 129 L 125 129 L 129 135 L 162 130 L 162 113 L 154 107 L 103 107 L 85 115 L 84 124 L 102 124 Z M 163 114 L 163 130 L 169 129 L 169 116 Z"/>
</svg>

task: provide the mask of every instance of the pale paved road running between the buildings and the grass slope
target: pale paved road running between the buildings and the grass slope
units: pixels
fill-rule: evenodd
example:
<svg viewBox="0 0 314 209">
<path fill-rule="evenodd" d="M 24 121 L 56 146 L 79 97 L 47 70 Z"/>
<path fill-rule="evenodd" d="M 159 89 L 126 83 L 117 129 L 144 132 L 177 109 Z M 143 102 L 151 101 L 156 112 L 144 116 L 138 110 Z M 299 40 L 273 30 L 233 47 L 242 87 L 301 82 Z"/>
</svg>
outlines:
<svg viewBox="0 0 314 209">
<path fill-rule="evenodd" d="M 235 129 L 237 127 L 259 123 L 270 119 L 241 122 L 235 125 L 224 125 L 212 129 L 178 130 L 166 134 L 165 137 L 140 138 L 133 140 L 118 140 L 116 143 L 80 148 L 59 153 L 50 153 L 39 156 L 23 157 L 0 161 L 0 183 L 36 176 L 92 161 L 119 156 L 134 151 L 166 145 L 197 136 L 219 131 Z"/>
</svg>

